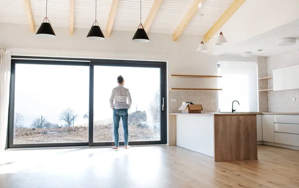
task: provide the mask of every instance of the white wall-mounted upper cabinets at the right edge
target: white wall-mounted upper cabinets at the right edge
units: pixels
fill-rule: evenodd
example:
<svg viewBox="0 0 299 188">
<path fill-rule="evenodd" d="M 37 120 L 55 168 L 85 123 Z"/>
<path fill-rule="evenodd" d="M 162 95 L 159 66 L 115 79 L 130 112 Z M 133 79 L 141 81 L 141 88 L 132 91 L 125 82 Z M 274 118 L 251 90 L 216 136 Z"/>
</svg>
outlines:
<svg viewBox="0 0 299 188">
<path fill-rule="evenodd" d="M 273 91 L 299 89 L 299 65 L 273 70 Z"/>
</svg>

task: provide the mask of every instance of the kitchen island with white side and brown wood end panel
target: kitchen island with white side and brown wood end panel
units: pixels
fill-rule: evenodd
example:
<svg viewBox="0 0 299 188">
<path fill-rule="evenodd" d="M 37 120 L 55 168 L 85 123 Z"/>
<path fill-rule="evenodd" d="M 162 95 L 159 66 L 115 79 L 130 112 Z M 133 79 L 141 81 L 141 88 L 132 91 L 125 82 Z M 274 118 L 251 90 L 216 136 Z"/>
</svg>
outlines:
<svg viewBox="0 0 299 188">
<path fill-rule="evenodd" d="M 215 161 L 258 159 L 258 113 L 169 114 L 169 145 Z"/>
</svg>

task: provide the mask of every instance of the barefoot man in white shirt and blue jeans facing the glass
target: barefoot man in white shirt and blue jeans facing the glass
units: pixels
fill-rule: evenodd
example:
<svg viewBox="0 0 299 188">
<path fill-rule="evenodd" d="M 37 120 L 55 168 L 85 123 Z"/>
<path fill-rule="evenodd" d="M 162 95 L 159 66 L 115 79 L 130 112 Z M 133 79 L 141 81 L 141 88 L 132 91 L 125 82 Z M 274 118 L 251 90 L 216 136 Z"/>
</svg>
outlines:
<svg viewBox="0 0 299 188">
<path fill-rule="evenodd" d="M 110 97 L 110 107 L 113 110 L 113 124 L 114 124 L 114 140 L 115 146 L 112 149 L 119 148 L 119 127 L 120 120 L 123 120 L 124 127 L 124 137 L 125 137 L 125 148 L 130 148 L 129 146 L 129 128 L 128 128 L 128 119 L 129 114 L 128 110 L 131 107 L 132 99 L 129 89 L 124 87 L 125 81 L 123 76 L 117 77 L 118 87 L 112 90 Z"/>
</svg>

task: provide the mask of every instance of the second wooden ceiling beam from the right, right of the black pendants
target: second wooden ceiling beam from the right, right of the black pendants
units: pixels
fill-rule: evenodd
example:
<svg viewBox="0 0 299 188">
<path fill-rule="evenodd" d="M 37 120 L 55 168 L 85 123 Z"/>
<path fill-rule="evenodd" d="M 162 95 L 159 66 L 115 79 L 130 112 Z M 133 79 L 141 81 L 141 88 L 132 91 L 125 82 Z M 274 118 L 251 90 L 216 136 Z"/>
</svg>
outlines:
<svg viewBox="0 0 299 188">
<path fill-rule="evenodd" d="M 193 16 L 195 15 L 195 13 L 199 9 L 199 7 L 201 7 L 200 4 L 202 4 L 203 2 L 204 2 L 204 0 L 194 0 L 193 1 L 193 3 L 190 6 L 189 10 L 187 11 L 185 16 L 181 20 L 181 22 L 178 24 L 177 28 L 173 32 L 173 34 L 172 34 L 172 40 L 173 41 L 177 41 L 177 39 L 181 36 L 181 34 L 185 30 L 185 28 L 187 27 L 189 22 L 192 20 Z"/>
</svg>

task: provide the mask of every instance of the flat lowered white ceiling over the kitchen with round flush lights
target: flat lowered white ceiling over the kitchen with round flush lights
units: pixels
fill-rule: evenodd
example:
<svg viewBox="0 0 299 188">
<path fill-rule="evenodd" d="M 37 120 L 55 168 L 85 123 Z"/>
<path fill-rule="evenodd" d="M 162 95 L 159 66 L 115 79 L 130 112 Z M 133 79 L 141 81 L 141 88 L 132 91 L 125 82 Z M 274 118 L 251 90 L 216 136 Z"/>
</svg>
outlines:
<svg viewBox="0 0 299 188">
<path fill-rule="evenodd" d="M 297 44 L 292 46 L 278 46 L 278 40 L 281 38 L 296 38 Z M 263 51 L 257 52 L 259 49 Z M 241 54 L 242 52 L 252 52 L 253 55 L 257 56 L 271 56 L 294 49 L 299 49 L 299 19 L 229 48 L 223 48 L 223 51 L 218 53 Z"/>
</svg>

